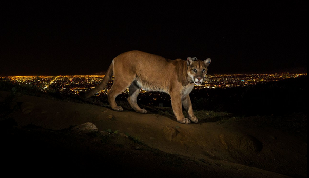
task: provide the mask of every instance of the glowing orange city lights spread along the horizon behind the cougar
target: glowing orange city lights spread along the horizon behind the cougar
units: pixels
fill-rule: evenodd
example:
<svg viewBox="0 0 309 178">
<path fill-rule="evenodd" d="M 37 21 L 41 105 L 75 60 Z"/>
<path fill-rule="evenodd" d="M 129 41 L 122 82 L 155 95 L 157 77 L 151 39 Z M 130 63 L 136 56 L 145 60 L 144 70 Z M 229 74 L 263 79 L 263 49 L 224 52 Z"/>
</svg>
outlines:
<svg viewBox="0 0 309 178">
<path fill-rule="evenodd" d="M 195 89 L 233 88 L 259 83 L 266 83 L 287 78 L 307 76 L 303 74 L 275 73 L 275 74 L 233 74 L 233 75 L 207 75 L 204 84 L 195 86 Z M 66 94 L 78 94 L 89 91 L 97 86 L 104 75 L 60 75 L 60 76 L 9 76 L 0 77 L 2 81 L 9 81 L 18 85 L 31 85 L 43 91 L 59 91 Z M 107 94 L 112 86 L 113 78 L 107 87 L 96 94 Z M 146 92 L 141 89 L 141 92 Z M 128 93 L 128 89 L 124 91 Z"/>
</svg>

